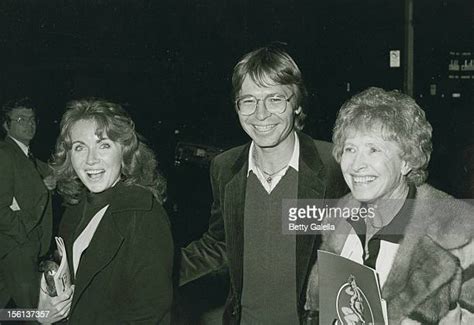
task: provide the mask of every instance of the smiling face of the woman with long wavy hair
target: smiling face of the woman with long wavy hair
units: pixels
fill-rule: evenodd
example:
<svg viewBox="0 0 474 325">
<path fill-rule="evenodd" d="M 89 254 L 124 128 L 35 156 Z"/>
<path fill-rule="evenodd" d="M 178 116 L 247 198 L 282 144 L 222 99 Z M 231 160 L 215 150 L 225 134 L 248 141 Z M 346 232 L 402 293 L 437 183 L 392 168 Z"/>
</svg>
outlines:
<svg viewBox="0 0 474 325">
<path fill-rule="evenodd" d="M 80 120 L 70 131 L 71 162 L 82 183 L 92 193 L 114 186 L 120 179 L 122 146 L 106 134 L 96 134 L 94 120 Z"/>
</svg>

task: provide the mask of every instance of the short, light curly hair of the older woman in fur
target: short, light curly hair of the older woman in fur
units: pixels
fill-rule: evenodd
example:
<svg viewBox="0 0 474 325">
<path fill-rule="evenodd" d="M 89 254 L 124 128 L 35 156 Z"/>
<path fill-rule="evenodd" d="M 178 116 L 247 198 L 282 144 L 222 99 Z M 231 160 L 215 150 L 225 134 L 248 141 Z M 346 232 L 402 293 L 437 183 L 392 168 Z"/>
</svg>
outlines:
<svg viewBox="0 0 474 325">
<path fill-rule="evenodd" d="M 401 159 L 411 171 L 407 182 L 421 185 L 428 177 L 433 146 L 430 123 L 413 98 L 398 91 L 371 87 L 345 102 L 333 129 L 333 156 L 341 161 L 344 142 L 350 132 L 381 132 L 384 140 L 395 141 Z"/>
</svg>

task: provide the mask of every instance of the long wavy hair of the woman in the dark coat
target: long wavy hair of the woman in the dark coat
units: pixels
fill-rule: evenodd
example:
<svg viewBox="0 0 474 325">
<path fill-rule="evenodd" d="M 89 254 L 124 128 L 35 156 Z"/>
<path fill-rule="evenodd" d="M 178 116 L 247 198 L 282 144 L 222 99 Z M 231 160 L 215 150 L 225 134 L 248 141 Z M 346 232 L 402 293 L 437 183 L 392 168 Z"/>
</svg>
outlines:
<svg viewBox="0 0 474 325">
<path fill-rule="evenodd" d="M 69 102 L 66 108 L 50 166 L 57 179 L 58 192 L 67 203 L 77 204 L 85 188 L 71 163 L 70 132 L 81 120 L 93 120 L 97 125 L 97 136 L 105 134 L 122 146 L 122 181 L 126 185 L 150 190 L 159 202 L 163 202 L 166 181 L 157 171 L 155 155 L 135 131 L 134 122 L 120 105 L 100 99 L 82 99 Z"/>
</svg>

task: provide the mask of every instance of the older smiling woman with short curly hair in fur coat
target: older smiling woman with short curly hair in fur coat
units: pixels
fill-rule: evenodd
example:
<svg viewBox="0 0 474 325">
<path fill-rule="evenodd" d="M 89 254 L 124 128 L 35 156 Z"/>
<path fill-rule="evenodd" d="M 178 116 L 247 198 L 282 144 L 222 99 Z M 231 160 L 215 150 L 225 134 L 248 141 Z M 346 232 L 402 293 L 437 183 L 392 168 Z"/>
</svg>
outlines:
<svg viewBox="0 0 474 325">
<path fill-rule="evenodd" d="M 474 209 L 425 183 L 431 133 L 397 91 L 369 88 L 342 106 L 333 155 L 351 193 L 338 206 L 374 215 L 332 221 L 320 249 L 377 271 L 389 324 L 474 324 Z M 318 276 L 316 263 L 305 306 L 316 313 Z"/>
</svg>

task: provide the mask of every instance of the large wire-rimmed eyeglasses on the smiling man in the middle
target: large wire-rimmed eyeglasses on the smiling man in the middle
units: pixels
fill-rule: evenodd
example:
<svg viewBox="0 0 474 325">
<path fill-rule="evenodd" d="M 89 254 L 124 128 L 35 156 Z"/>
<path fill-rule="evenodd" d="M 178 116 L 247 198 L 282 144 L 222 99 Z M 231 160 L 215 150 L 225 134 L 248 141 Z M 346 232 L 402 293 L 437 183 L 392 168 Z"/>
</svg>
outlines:
<svg viewBox="0 0 474 325">
<path fill-rule="evenodd" d="M 281 94 L 270 94 L 261 99 L 249 95 L 237 98 L 235 104 L 242 115 L 252 115 L 255 113 L 259 101 L 263 101 L 263 105 L 270 113 L 281 114 L 286 110 L 286 106 L 293 96 L 294 94 L 291 94 L 290 97 Z"/>
</svg>

